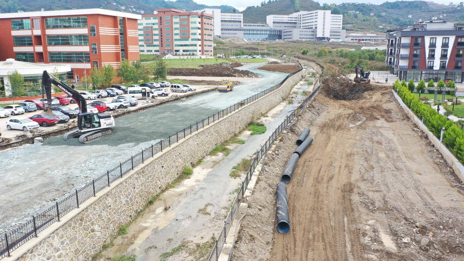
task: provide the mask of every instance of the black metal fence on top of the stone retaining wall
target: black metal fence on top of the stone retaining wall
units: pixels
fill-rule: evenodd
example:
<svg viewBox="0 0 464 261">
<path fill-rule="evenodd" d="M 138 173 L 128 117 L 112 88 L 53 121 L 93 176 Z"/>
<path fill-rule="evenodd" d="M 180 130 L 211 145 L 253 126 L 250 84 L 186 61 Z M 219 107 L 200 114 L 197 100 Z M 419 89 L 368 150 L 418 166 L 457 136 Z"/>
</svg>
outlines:
<svg viewBox="0 0 464 261">
<path fill-rule="evenodd" d="M 14 228 L 13 230 L 4 233 L 0 236 L 0 259 L 5 256 L 10 256 L 10 253 L 19 248 L 26 241 L 30 240 L 33 237 L 37 237 L 37 234 L 53 224 L 54 222 L 59 222 L 60 218 L 63 215 L 66 215 L 71 210 L 79 208 L 84 201 L 89 199 L 92 196 L 95 196 L 100 190 L 109 187 L 111 183 L 116 181 L 119 178 L 122 178 L 130 170 L 144 163 L 150 157 L 153 157 L 156 153 L 165 150 L 170 147 L 172 144 L 179 142 L 180 139 L 190 135 L 194 131 L 200 130 L 209 124 L 214 123 L 222 117 L 225 117 L 231 114 L 233 111 L 237 111 L 241 107 L 254 102 L 255 100 L 267 95 L 268 93 L 277 90 L 280 88 L 284 82 L 291 76 L 301 72 L 303 68 L 300 68 L 296 72 L 290 73 L 287 75 L 284 80 L 280 83 L 269 87 L 264 91 L 260 91 L 257 94 L 248 97 L 236 104 L 233 104 L 222 111 L 218 111 L 211 116 L 208 116 L 186 128 L 177 131 L 176 133 L 169 135 L 168 137 L 162 139 L 156 144 L 141 150 L 139 153 L 131 156 L 130 158 L 120 162 L 113 169 L 107 170 L 105 174 L 99 176 L 95 179 L 92 179 L 90 183 L 85 184 L 79 189 L 71 192 L 68 196 L 64 197 L 60 201 L 56 201 L 50 208 L 46 209 L 40 214 L 32 216 L 32 219 L 21 224 L 19 227 Z"/>
</svg>

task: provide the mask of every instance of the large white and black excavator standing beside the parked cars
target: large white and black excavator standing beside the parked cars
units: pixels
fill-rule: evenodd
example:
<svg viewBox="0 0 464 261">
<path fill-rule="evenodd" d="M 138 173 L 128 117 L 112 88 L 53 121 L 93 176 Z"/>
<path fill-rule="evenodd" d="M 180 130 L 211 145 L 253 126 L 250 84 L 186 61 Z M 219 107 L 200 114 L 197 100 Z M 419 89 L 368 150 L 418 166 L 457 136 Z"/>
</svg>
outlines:
<svg viewBox="0 0 464 261">
<path fill-rule="evenodd" d="M 78 91 L 71 88 L 69 85 L 56 78 L 52 74 L 44 71 L 42 74 L 42 86 L 47 95 L 47 104 L 44 112 L 41 115 L 48 119 L 54 119 L 55 115 L 52 111 L 52 84 L 57 86 L 60 90 L 64 91 L 70 98 L 74 99 L 79 106 L 80 113 L 77 116 L 78 129 L 69 131 L 64 134 L 64 140 L 70 138 L 79 138 L 81 143 L 89 143 L 101 137 L 113 133 L 112 127 L 115 126 L 113 116 L 106 113 L 92 113 L 87 112 L 87 103 L 85 98 L 79 94 Z"/>
</svg>

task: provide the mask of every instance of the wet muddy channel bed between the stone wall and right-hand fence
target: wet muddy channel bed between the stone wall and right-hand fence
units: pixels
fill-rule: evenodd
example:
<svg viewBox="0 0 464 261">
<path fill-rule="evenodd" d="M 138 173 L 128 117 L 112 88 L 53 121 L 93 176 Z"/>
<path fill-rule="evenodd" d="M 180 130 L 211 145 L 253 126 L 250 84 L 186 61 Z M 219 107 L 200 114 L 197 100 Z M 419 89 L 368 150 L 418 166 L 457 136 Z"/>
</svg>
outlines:
<svg viewBox="0 0 464 261">
<path fill-rule="evenodd" d="M 301 94 L 309 88 L 306 84 L 297 85 L 292 92 Z M 246 139 L 245 144 L 234 144 L 227 157 L 206 157 L 205 162 L 194 169 L 190 179 L 166 191 L 130 226 L 127 237 L 116 239 L 115 247 L 103 255 L 136 254 L 137 260 L 159 260 L 162 253 L 169 252 L 183 240 L 202 243 L 213 234 L 217 237 L 228 207 L 236 196 L 234 189 L 243 179 L 229 176 L 232 167 L 241 159 L 252 157 L 289 112 L 296 108 L 302 97 L 290 96 L 293 104 L 282 102 L 259 120 L 267 127 L 264 134 L 249 136 L 245 133 L 242 137 Z M 198 212 L 205 206 L 209 215 Z M 185 259 L 185 256 L 175 256 L 172 260 Z"/>
</svg>

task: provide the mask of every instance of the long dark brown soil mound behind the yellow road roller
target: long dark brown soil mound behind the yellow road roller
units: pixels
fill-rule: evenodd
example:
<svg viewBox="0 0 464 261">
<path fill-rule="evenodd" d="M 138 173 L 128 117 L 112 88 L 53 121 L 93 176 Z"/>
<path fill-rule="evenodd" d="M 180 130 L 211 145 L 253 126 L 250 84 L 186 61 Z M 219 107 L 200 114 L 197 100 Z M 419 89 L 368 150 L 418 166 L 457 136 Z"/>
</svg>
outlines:
<svg viewBox="0 0 464 261">
<path fill-rule="evenodd" d="M 240 63 L 220 63 L 213 65 L 200 65 L 197 68 L 170 68 L 169 75 L 175 76 L 204 76 L 204 77 L 248 77 L 258 78 L 259 75 L 248 70 L 238 70 L 235 67 L 242 66 Z"/>
</svg>

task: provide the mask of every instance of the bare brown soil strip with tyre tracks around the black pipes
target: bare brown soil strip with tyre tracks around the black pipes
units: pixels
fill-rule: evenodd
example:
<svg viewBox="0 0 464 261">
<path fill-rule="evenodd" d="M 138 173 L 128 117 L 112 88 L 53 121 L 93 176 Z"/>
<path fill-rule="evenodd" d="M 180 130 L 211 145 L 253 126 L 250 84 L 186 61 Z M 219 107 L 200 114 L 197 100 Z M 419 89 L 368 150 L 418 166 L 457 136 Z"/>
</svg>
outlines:
<svg viewBox="0 0 464 261">
<path fill-rule="evenodd" d="M 390 88 L 324 83 L 266 159 L 232 260 L 464 260 L 464 186 Z M 305 127 L 279 234 L 276 185 Z"/>
</svg>

